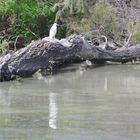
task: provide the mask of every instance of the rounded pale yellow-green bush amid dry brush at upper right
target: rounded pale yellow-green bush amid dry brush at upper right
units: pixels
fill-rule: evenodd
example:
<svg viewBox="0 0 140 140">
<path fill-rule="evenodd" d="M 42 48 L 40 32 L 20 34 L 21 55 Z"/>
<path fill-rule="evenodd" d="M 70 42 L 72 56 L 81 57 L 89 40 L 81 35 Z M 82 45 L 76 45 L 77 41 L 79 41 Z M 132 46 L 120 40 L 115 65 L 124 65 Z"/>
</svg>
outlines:
<svg viewBox="0 0 140 140">
<path fill-rule="evenodd" d="M 95 28 L 103 28 L 105 33 L 110 37 L 116 38 L 119 36 L 119 18 L 116 7 L 113 7 L 107 2 L 100 2 L 90 12 Z"/>
</svg>

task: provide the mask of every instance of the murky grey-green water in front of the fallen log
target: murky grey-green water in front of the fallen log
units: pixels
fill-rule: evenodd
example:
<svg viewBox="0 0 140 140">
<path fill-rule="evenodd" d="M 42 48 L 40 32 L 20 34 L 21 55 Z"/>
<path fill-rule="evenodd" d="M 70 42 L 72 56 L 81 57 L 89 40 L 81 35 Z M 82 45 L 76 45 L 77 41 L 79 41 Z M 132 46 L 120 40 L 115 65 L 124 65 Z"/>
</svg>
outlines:
<svg viewBox="0 0 140 140">
<path fill-rule="evenodd" d="M 139 140 L 140 66 L 0 83 L 0 140 Z"/>
</svg>

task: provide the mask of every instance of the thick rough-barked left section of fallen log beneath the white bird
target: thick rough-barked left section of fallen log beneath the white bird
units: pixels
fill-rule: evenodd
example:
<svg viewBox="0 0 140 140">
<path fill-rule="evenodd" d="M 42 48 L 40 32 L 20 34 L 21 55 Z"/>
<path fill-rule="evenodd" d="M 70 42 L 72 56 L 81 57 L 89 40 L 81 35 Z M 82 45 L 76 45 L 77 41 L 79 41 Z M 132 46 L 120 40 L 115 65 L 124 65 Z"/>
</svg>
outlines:
<svg viewBox="0 0 140 140">
<path fill-rule="evenodd" d="M 16 76 L 29 77 L 39 69 L 52 71 L 66 63 L 83 61 L 78 53 L 82 50 L 80 36 L 64 40 L 44 38 L 27 47 L 0 58 L 0 81 Z"/>
</svg>

